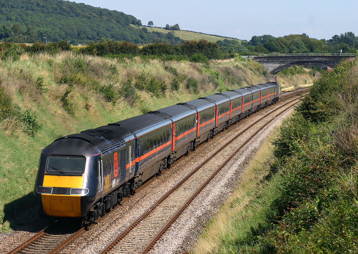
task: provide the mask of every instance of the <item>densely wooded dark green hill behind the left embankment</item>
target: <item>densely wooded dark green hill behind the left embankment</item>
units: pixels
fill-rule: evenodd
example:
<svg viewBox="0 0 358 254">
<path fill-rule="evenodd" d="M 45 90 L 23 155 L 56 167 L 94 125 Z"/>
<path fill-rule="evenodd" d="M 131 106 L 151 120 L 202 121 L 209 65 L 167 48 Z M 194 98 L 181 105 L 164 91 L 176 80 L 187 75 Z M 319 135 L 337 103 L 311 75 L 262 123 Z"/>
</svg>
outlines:
<svg viewBox="0 0 358 254">
<path fill-rule="evenodd" d="M 62 0 L 0 0 L 0 39 L 18 42 L 101 38 L 132 43 L 153 42 L 153 35 L 134 29 L 137 19 L 120 11 Z"/>
</svg>

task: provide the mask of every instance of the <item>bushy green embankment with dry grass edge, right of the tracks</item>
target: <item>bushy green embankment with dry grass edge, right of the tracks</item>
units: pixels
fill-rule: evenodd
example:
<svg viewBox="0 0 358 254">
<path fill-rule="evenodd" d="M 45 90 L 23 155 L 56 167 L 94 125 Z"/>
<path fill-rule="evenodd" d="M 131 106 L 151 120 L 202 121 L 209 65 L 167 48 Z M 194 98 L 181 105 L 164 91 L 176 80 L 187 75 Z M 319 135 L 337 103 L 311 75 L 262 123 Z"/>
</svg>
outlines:
<svg viewBox="0 0 358 254">
<path fill-rule="evenodd" d="M 358 252 L 357 73 L 356 58 L 321 75 L 194 253 Z"/>
</svg>

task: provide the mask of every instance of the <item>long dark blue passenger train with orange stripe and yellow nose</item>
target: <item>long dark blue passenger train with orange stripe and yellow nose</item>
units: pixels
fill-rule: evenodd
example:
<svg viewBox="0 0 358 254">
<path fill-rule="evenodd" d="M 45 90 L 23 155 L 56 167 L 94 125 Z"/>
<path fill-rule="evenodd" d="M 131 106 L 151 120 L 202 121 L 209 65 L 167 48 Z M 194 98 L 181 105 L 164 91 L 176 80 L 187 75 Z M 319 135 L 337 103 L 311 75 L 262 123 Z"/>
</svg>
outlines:
<svg viewBox="0 0 358 254">
<path fill-rule="evenodd" d="M 276 103 L 279 94 L 276 82 L 246 86 L 58 138 L 39 158 L 39 213 L 94 222 L 179 157 Z"/>
</svg>

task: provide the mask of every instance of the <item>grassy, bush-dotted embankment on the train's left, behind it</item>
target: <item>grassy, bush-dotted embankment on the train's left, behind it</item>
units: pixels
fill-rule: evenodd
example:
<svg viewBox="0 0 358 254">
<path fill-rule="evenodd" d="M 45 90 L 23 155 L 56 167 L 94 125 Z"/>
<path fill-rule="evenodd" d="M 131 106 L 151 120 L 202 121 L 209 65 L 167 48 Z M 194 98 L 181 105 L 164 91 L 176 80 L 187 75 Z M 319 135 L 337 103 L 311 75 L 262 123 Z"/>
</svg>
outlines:
<svg viewBox="0 0 358 254">
<path fill-rule="evenodd" d="M 0 72 L 0 231 L 36 218 L 37 163 L 56 138 L 267 79 L 261 65 L 235 59 L 207 65 L 75 53 L 23 54 L 0 61 Z"/>
</svg>

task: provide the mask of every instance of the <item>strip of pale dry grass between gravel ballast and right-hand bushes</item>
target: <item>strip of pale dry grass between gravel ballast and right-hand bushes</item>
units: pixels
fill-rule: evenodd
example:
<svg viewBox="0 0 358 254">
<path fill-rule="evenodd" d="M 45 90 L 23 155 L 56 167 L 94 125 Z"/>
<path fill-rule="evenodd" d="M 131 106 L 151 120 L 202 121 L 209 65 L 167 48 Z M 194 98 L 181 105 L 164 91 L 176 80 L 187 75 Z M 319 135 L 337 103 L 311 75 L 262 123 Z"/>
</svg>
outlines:
<svg viewBox="0 0 358 254">
<path fill-rule="evenodd" d="M 272 132 L 269 138 L 262 144 L 260 150 L 248 164 L 238 186 L 210 221 L 207 228 L 204 229 L 203 234 L 199 236 L 197 244 L 194 246 L 195 254 L 217 253 L 221 246 L 221 239 L 225 235 L 233 234 L 232 219 L 238 220 L 235 215 L 245 210 L 255 197 L 248 194 L 256 188 L 260 188 L 262 181 L 265 181 L 264 178 L 269 172 L 267 165 L 272 160 L 273 150 L 271 142 L 277 133 L 278 130 Z M 250 214 L 247 214 L 247 216 L 250 216 Z M 240 221 L 236 223 L 240 223 Z"/>
</svg>

